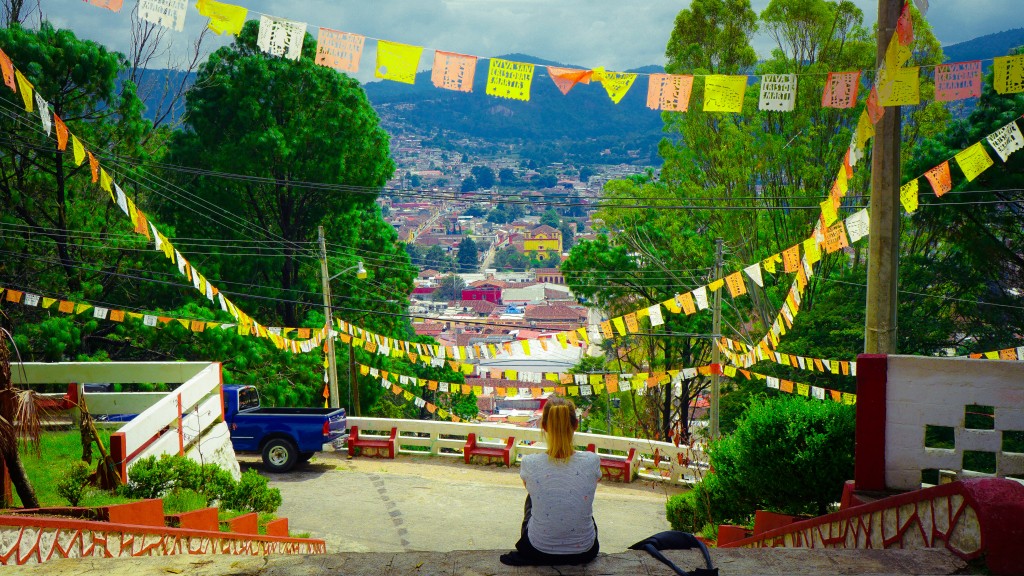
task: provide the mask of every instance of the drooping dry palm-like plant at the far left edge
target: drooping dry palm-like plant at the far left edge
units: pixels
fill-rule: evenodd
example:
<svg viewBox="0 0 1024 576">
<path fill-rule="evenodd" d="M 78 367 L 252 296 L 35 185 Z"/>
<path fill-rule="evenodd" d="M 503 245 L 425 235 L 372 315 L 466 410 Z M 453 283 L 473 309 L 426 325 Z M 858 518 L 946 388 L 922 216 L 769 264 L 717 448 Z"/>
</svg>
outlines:
<svg viewBox="0 0 1024 576">
<path fill-rule="evenodd" d="M 14 338 L 6 329 L 0 328 L 0 454 L 7 466 L 11 484 L 22 499 L 22 505 L 26 508 L 38 508 L 39 500 L 25 466 L 22 465 L 18 447 L 31 446 L 39 452 L 41 410 L 34 392 L 14 387 L 10 377 L 10 349 L 17 351 Z M 11 502 L 3 501 L 0 491 L 0 507 L 10 505 Z"/>
</svg>

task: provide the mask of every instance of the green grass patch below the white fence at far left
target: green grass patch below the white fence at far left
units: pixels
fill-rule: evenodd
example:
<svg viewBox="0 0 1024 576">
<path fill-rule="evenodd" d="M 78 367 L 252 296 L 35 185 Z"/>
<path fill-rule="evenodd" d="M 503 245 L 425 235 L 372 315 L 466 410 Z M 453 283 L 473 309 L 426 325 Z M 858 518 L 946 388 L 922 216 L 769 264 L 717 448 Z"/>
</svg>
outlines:
<svg viewBox="0 0 1024 576">
<path fill-rule="evenodd" d="M 111 433 L 99 429 L 99 438 L 103 446 L 110 446 Z M 22 447 L 22 464 L 29 475 L 29 481 L 36 490 L 36 498 L 41 506 L 67 506 L 68 501 L 57 494 L 57 481 L 63 476 L 65 470 L 72 462 L 82 458 L 82 440 L 78 430 L 69 431 L 47 431 L 40 438 L 40 452 L 37 454 L 31 447 Z M 92 447 L 92 463 L 90 467 L 95 470 L 99 461 L 99 451 L 96 446 Z M 81 506 L 105 506 L 109 504 L 123 504 L 133 501 L 118 495 L 112 495 L 95 488 L 87 491 L 85 497 L 79 502 Z M 14 491 L 14 503 L 20 506 L 20 498 L 17 491 Z"/>
</svg>

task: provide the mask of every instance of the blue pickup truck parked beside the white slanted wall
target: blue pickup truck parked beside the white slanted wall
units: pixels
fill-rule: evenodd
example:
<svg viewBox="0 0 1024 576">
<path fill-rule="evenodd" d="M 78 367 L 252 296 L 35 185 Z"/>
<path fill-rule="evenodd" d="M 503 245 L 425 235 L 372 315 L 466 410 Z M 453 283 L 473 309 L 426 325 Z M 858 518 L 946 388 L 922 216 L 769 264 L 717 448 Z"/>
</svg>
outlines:
<svg viewBox="0 0 1024 576">
<path fill-rule="evenodd" d="M 305 462 L 345 436 L 344 408 L 266 408 L 253 386 L 224 385 L 224 419 L 236 452 L 257 452 L 269 471 Z"/>
</svg>

